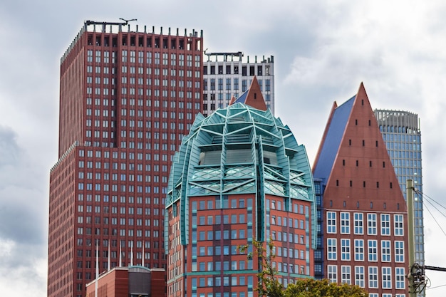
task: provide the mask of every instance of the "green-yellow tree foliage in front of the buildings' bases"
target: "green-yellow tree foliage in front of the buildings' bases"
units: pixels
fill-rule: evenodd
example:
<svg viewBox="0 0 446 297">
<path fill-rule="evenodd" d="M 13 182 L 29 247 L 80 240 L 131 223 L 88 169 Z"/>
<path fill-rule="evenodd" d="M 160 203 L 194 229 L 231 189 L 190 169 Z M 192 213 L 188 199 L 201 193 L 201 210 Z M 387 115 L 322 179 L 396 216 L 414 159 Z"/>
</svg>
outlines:
<svg viewBox="0 0 446 297">
<path fill-rule="evenodd" d="M 327 279 L 321 281 L 305 278 L 298 279 L 295 283 L 289 283 L 284 288 L 277 279 L 277 271 L 273 266 L 276 255 L 274 254 L 274 242 L 270 239 L 266 247 L 261 241 L 253 240 L 253 251 L 248 254 L 248 258 L 259 259 L 261 271 L 258 273 L 259 286 L 256 291 L 259 296 L 266 297 L 368 297 L 367 291 L 359 286 L 348 285 L 346 283 L 338 285 L 329 283 Z M 240 246 L 240 251 L 247 251 L 248 245 Z"/>
</svg>

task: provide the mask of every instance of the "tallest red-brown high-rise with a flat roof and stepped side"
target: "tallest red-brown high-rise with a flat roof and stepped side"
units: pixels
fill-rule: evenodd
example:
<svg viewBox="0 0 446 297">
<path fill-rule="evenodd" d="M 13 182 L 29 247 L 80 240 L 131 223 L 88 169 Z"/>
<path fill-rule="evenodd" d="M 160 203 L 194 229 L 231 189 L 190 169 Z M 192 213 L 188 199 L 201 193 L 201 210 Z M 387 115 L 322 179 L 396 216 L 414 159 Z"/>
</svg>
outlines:
<svg viewBox="0 0 446 297">
<path fill-rule="evenodd" d="M 61 58 L 51 168 L 48 296 L 85 296 L 99 272 L 165 268 L 173 153 L 202 110 L 202 33 L 86 21 Z M 110 251 L 110 254 L 109 254 Z"/>
</svg>

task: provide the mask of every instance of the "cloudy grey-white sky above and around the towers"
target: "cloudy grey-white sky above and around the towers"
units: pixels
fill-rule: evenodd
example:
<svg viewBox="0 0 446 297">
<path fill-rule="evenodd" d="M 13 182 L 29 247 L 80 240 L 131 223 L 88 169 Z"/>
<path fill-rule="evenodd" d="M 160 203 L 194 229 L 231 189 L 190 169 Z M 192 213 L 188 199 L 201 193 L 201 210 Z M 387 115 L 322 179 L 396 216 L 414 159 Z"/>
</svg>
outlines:
<svg viewBox="0 0 446 297">
<path fill-rule="evenodd" d="M 418 113 L 423 191 L 446 205 L 445 15 L 437 0 L 0 1 L 1 294 L 46 296 L 60 58 L 84 21 L 203 30 L 209 52 L 274 56 L 276 116 L 311 164 L 333 101 L 363 82 L 373 108 Z M 446 267 L 445 209 L 427 207 L 425 264 Z M 446 273 L 427 276 L 427 297 L 444 296 Z"/>
</svg>

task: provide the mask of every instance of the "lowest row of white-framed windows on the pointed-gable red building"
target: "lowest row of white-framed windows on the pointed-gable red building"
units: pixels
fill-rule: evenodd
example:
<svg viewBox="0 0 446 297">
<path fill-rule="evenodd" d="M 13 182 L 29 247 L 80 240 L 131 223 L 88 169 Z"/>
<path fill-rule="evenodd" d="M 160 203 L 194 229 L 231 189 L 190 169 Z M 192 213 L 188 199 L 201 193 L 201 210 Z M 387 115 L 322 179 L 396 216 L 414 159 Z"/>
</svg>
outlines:
<svg viewBox="0 0 446 297">
<path fill-rule="evenodd" d="M 339 267 L 336 265 L 328 265 L 328 280 L 333 283 L 352 283 L 352 271 L 351 266 L 341 266 L 340 271 L 338 271 Z M 365 269 L 368 269 L 367 278 L 365 278 Z M 381 267 L 381 281 L 379 283 L 378 279 L 378 270 L 379 268 L 376 266 L 354 266 L 354 284 L 356 286 L 360 286 L 361 288 L 365 288 L 365 280 L 368 280 L 367 287 L 368 288 L 383 288 L 383 289 L 391 289 L 393 288 L 392 281 L 392 269 L 391 267 Z M 340 278 L 338 278 L 338 272 L 340 274 Z M 395 267 L 395 286 L 396 289 L 405 289 L 405 269 L 404 267 Z"/>
</svg>

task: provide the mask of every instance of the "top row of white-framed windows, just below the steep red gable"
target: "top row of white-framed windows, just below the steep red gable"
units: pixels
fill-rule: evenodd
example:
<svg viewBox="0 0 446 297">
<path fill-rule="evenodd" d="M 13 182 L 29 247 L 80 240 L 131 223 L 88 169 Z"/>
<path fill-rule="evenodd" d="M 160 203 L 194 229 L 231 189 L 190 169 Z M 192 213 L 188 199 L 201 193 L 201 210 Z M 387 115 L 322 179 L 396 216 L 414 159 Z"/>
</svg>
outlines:
<svg viewBox="0 0 446 297">
<path fill-rule="evenodd" d="M 337 233 L 337 219 L 336 212 L 327 212 L 327 233 Z M 340 212 L 340 230 L 341 234 L 351 233 L 351 213 Z M 366 214 L 367 216 L 367 234 L 377 235 L 377 214 Z M 393 215 L 393 235 L 404 236 L 403 228 L 403 214 Z M 361 212 L 355 212 L 353 214 L 353 234 L 364 234 L 364 214 Z M 380 214 L 380 235 L 390 236 L 390 214 Z"/>
</svg>

